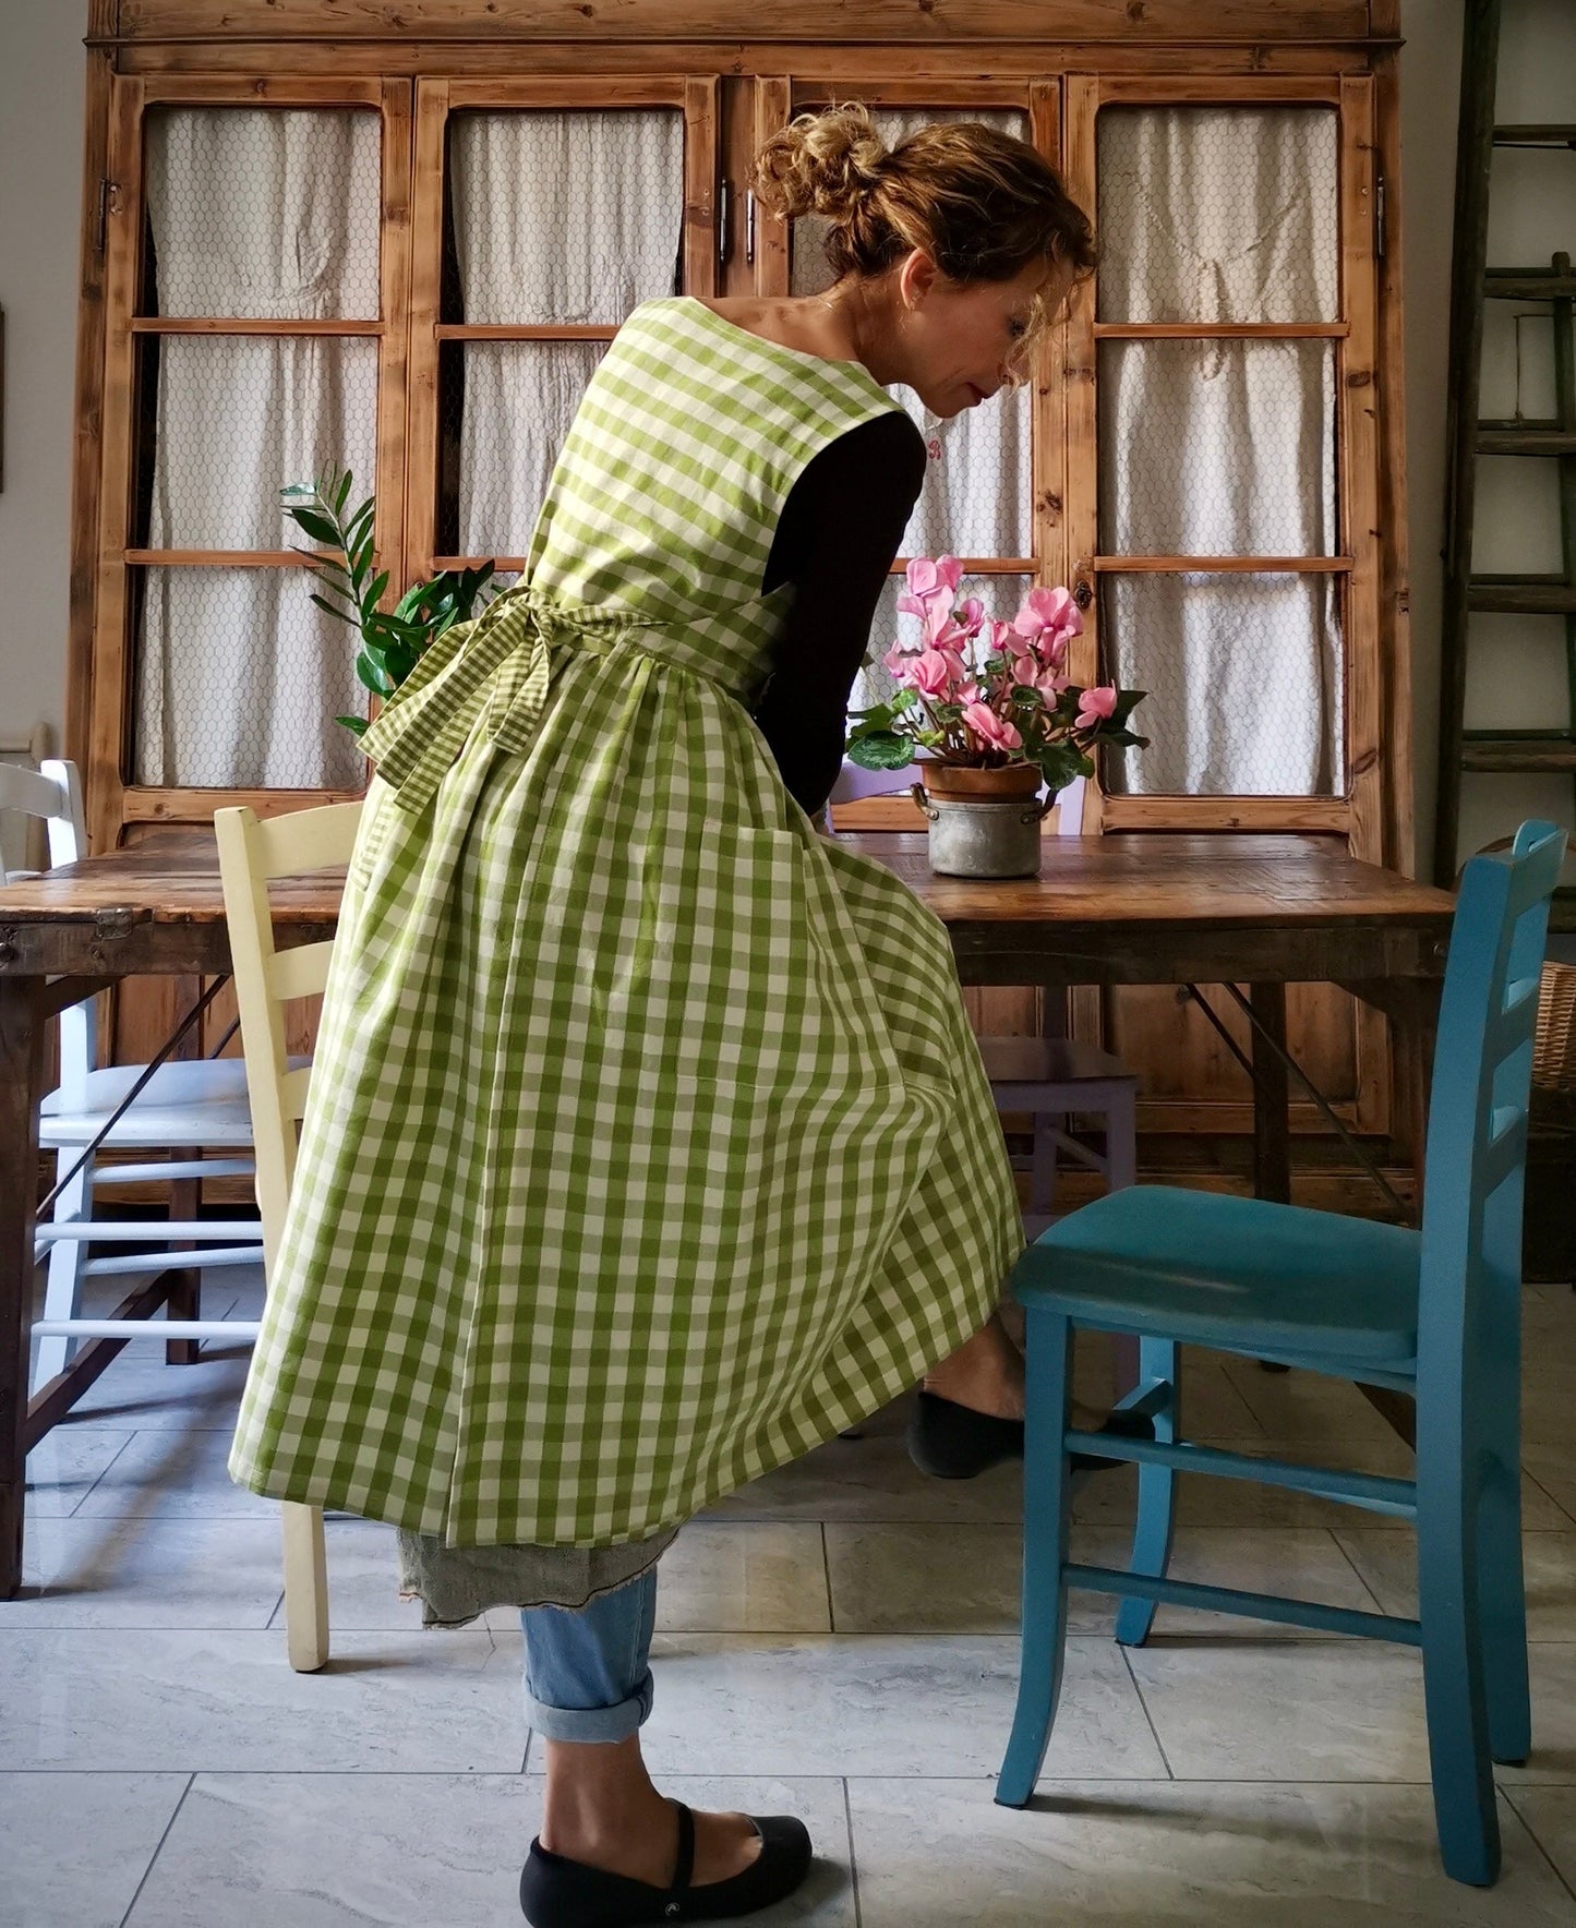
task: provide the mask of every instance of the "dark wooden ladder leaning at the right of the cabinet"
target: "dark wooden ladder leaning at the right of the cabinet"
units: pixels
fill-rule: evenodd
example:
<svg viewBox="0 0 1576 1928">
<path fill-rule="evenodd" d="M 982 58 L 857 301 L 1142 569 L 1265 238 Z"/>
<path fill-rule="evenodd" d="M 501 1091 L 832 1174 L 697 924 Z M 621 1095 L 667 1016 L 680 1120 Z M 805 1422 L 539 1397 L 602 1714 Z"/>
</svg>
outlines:
<svg viewBox="0 0 1576 1928">
<path fill-rule="evenodd" d="M 1439 688 L 1439 802 L 1435 814 L 1435 881 L 1454 883 L 1464 771 L 1524 775 L 1568 771 L 1576 796 L 1576 361 L 1572 303 L 1576 276 L 1568 254 L 1547 268 L 1489 268 L 1489 181 L 1495 148 L 1570 148 L 1572 125 L 1495 123 L 1501 0 L 1466 0 L 1462 33 L 1460 131 L 1456 143 L 1456 216 L 1451 258 L 1449 469 L 1445 478 L 1445 617 Z M 1576 160 L 1572 162 L 1576 193 Z M 1478 415 L 1483 307 L 1487 301 L 1547 305 L 1553 318 L 1553 416 L 1481 420 Z M 1518 397 L 1520 407 L 1520 397 Z M 1472 526 L 1480 455 L 1524 455 L 1559 465 L 1559 575 L 1505 576 L 1472 573 Z M 1564 617 L 1570 710 L 1562 729 L 1466 729 L 1466 665 L 1478 611 Z M 1555 897 L 1551 929 L 1576 929 L 1576 889 Z"/>
</svg>

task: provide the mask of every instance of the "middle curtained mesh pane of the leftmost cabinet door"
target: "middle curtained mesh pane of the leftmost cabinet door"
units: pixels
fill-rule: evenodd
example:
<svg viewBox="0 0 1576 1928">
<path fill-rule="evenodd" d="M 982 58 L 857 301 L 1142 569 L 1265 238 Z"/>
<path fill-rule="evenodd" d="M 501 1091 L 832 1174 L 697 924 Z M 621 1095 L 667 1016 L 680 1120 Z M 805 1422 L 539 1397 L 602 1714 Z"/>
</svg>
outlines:
<svg viewBox="0 0 1576 1928">
<path fill-rule="evenodd" d="M 139 540 L 154 549 L 278 549 L 307 538 L 280 490 L 349 467 L 372 490 L 378 343 L 143 337 Z M 152 397 L 147 386 L 152 384 Z"/>
</svg>

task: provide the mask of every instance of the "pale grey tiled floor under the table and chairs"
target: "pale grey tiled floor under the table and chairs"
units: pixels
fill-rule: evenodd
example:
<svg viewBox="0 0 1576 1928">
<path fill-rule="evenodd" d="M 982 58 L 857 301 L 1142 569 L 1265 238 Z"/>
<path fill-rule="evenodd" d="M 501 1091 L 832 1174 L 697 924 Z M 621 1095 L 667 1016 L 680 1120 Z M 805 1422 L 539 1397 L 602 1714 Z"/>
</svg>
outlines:
<svg viewBox="0 0 1576 1928">
<path fill-rule="evenodd" d="M 810 1822 L 816 1874 L 779 1922 L 1576 1928 L 1576 1294 L 1528 1290 L 1526 1328 L 1535 1753 L 1499 1776 L 1495 1889 L 1439 1872 L 1416 1652 L 1217 1616 L 1163 1610 L 1128 1652 L 1076 1596 L 1046 1780 L 1030 1810 L 993 1807 L 1017 1477 L 922 1479 L 901 1409 L 679 1539 L 654 1772 Z M 224 1473 L 245 1348 L 210 1352 L 133 1348 L 33 1456 L 33 1585 L 0 1602 L 0 1924 L 519 1922 L 540 1783 L 517 1623 L 421 1633 L 386 1529 L 330 1519 L 334 1660 L 291 1674 L 274 1508 Z M 1080 1363 L 1096 1396 L 1105 1361 Z M 1200 1355 L 1186 1400 L 1198 1438 L 1410 1463 L 1310 1377 Z M 1130 1475 L 1088 1485 L 1084 1558 L 1119 1556 L 1130 1508 Z M 1182 1575 L 1410 1610 L 1410 1537 L 1373 1515 L 1188 1481 L 1181 1519 Z"/>
</svg>

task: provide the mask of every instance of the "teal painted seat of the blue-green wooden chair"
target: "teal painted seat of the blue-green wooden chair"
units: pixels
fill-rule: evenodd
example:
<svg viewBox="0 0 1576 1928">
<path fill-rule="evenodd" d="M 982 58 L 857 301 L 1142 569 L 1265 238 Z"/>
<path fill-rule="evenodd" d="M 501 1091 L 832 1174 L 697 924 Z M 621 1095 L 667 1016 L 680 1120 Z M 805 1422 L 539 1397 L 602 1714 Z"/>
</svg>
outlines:
<svg viewBox="0 0 1576 1928">
<path fill-rule="evenodd" d="M 1096 1326 L 1397 1369 L 1418 1355 L 1420 1251 L 1395 1224 L 1128 1186 L 1044 1232 L 1013 1294 Z"/>
</svg>

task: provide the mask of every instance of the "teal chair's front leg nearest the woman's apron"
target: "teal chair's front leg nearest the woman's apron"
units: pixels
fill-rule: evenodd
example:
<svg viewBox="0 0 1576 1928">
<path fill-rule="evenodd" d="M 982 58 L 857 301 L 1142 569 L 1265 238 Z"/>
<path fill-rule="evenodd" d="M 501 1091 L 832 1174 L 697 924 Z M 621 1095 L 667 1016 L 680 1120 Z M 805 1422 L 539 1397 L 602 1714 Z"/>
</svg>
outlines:
<svg viewBox="0 0 1576 1928">
<path fill-rule="evenodd" d="M 1073 1326 L 1059 1313 L 1028 1311 L 1024 1357 L 1024 1550 L 1022 1654 L 1013 1733 L 995 1783 L 1001 1807 L 1026 1807 L 1051 1739 L 1067 1652 L 1067 1402 Z"/>
</svg>

